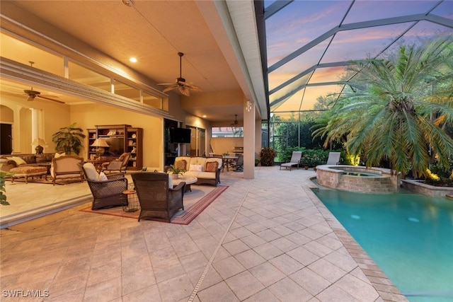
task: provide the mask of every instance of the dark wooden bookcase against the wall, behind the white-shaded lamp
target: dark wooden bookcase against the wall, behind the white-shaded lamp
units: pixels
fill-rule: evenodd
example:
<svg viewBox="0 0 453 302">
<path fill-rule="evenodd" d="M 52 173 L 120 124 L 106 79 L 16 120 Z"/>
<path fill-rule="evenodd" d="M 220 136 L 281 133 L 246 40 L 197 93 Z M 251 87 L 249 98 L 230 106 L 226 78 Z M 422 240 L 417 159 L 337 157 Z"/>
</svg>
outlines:
<svg viewBox="0 0 453 302">
<path fill-rule="evenodd" d="M 141 170 L 143 165 L 143 129 L 131 127 L 130 124 L 96 125 L 96 129 L 86 129 L 88 132 L 87 158 L 96 156 L 96 148 L 91 144 L 98 138 L 105 139 L 110 147 L 103 157 L 117 158 L 124 152 L 130 152 L 131 157 L 127 170 Z"/>
</svg>

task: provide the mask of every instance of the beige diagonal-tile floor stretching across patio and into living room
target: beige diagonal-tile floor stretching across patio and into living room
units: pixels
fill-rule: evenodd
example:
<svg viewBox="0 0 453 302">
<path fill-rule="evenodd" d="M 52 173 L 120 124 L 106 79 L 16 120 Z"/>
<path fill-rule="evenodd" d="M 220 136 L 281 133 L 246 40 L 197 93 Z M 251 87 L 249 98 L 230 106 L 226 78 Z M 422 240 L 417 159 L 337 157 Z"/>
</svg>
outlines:
<svg viewBox="0 0 453 302">
<path fill-rule="evenodd" d="M 229 188 L 188 226 L 79 205 L 3 228 L 0 299 L 407 301 L 311 192 L 313 170 L 258 167 L 255 176 L 222 173 Z M 58 204 L 89 194 L 86 182 L 6 190 L 21 206 L 1 207 L 2 219 L 40 197 Z M 16 289 L 48 297 L 5 296 Z"/>
</svg>

